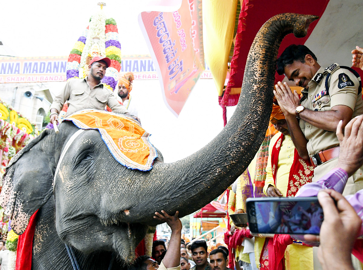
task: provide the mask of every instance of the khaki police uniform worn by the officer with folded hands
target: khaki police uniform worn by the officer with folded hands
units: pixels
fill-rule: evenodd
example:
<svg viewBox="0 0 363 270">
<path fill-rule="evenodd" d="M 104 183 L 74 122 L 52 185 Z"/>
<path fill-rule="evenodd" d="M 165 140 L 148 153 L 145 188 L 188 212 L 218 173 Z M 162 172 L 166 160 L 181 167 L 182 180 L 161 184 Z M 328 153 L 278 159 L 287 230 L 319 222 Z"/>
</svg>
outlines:
<svg viewBox="0 0 363 270">
<path fill-rule="evenodd" d="M 324 93 L 326 77 L 328 79 L 329 93 Z M 302 91 L 301 105 L 309 110 L 328 111 L 337 105 L 348 106 L 353 110 L 352 118 L 363 114 L 362 93 L 358 94 L 359 80 L 351 71 L 339 67 L 338 64 L 331 64 L 327 68 L 321 67 L 309 82 L 309 89 Z M 309 156 L 320 151 L 339 146 L 339 140 L 335 132 L 325 131 L 300 119 L 299 125 L 307 141 Z M 326 172 L 334 168 L 338 158 L 331 159 L 314 169 L 313 182 L 318 181 Z M 354 194 L 363 188 L 362 183 L 355 183 L 362 179 L 362 171 L 359 169 L 355 175 L 348 180 L 345 194 Z M 354 179 L 354 180 L 353 180 Z M 346 190 L 348 193 L 346 193 Z M 350 190 L 350 191 L 348 191 Z M 344 194 L 344 193 L 343 193 Z"/>
</svg>

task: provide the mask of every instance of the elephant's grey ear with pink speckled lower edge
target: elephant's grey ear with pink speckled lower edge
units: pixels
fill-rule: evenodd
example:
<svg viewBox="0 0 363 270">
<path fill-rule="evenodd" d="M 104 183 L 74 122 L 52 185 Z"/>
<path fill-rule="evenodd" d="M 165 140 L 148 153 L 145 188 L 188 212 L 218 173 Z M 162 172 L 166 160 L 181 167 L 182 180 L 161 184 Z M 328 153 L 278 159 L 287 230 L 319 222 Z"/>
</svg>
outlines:
<svg viewBox="0 0 363 270">
<path fill-rule="evenodd" d="M 55 165 L 54 151 L 49 152 L 50 131 L 53 130 L 43 131 L 21 149 L 3 176 L 0 205 L 10 216 L 11 228 L 17 234 L 24 233 L 30 216 L 52 195 Z"/>
</svg>

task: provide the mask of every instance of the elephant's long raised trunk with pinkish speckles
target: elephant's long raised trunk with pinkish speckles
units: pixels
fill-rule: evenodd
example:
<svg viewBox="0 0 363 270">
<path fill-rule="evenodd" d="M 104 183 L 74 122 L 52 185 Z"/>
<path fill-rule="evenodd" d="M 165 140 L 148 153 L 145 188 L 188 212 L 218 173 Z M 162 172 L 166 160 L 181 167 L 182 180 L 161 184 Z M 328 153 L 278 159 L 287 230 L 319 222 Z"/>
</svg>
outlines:
<svg viewBox="0 0 363 270">
<path fill-rule="evenodd" d="M 232 118 L 212 142 L 183 160 L 157 164 L 144 177 L 135 177 L 140 190 L 125 205 L 124 222 L 155 225 L 155 211 L 193 213 L 219 196 L 254 158 L 272 110 L 275 62 L 286 34 L 303 37 L 317 16 L 285 13 L 272 17 L 250 48 L 240 99 Z M 192 136 L 191 136 L 192 139 Z M 148 183 L 148 179 L 155 179 Z M 160 179 L 160 180 L 159 180 Z M 140 181 L 140 183 L 137 183 Z"/>
</svg>

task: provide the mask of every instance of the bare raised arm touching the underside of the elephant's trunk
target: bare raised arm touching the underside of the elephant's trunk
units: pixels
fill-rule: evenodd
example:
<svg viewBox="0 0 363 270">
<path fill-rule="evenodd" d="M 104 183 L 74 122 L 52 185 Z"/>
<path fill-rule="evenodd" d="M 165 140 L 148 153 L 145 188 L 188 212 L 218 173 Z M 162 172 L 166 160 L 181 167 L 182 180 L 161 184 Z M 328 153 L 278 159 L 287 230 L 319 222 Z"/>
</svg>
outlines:
<svg viewBox="0 0 363 270">
<path fill-rule="evenodd" d="M 177 267 L 180 265 L 180 239 L 181 239 L 181 221 L 178 217 L 179 211 L 174 216 L 169 216 L 164 210 L 162 213 L 155 212 L 154 218 L 166 222 L 171 228 L 171 236 L 168 249 L 163 259 L 166 268 Z"/>
</svg>

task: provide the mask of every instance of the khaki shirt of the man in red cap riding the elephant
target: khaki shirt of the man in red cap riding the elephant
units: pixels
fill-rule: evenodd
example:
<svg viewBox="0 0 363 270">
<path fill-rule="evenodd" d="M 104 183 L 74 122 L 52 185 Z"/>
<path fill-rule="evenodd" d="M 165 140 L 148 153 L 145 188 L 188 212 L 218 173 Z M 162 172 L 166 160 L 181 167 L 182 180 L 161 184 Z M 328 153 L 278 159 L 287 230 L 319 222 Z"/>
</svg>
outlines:
<svg viewBox="0 0 363 270">
<path fill-rule="evenodd" d="M 60 113 L 65 101 L 68 100 L 66 116 L 84 109 L 104 110 L 108 105 L 114 113 L 128 113 L 126 108 L 116 100 L 114 93 L 103 87 L 102 82 L 93 89 L 90 88 L 87 77 L 83 79 L 70 79 L 64 89 L 56 95 L 50 109 L 54 108 Z"/>
</svg>

